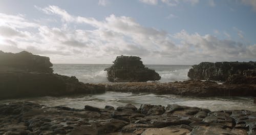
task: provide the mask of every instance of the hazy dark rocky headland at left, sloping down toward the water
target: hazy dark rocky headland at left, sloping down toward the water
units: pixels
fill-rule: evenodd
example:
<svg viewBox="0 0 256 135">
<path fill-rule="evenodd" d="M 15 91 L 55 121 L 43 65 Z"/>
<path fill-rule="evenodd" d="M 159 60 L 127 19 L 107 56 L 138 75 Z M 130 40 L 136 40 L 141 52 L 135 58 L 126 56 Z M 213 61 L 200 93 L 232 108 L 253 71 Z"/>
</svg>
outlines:
<svg viewBox="0 0 256 135">
<path fill-rule="evenodd" d="M 0 52 L 0 99 L 104 93 L 104 85 L 53 74 L 48 57 Z"/>
</svg>

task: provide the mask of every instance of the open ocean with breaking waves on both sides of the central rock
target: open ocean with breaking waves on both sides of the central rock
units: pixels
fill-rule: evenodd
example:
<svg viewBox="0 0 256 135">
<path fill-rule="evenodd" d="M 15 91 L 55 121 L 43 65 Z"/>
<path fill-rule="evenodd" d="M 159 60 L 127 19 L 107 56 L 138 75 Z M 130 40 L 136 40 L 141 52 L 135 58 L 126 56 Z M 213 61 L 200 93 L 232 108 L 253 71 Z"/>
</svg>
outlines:
<svg viewBox="0 0 256 135">
<path fill-rule="evenodd" d="M 105 83 L 106 71 L 111 64 L 53 64 L 54 73 L 75 76 L 84 83 Z M 160 76 L 160 82 L 185 81 L 191 65 L 145 65 L 155 70 Z"/>
</svg>

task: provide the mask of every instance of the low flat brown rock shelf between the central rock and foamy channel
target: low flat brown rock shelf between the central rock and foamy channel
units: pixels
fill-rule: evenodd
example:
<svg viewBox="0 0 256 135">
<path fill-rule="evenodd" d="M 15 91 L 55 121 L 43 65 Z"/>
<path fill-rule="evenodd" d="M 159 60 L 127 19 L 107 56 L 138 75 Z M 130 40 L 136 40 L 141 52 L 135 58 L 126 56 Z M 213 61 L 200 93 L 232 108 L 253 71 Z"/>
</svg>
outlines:
<svg viewBox="0 0 256 135">
<path fill-rule="evenodd" d="M 183 82 L 127 82 L 109 83 L 106 91 L 124 93 L 174 94 L 181 96 L 253 96 L 256 97 L 254 84 L 218 84 L 213 81 L 187 80 Z"/>
</svg>

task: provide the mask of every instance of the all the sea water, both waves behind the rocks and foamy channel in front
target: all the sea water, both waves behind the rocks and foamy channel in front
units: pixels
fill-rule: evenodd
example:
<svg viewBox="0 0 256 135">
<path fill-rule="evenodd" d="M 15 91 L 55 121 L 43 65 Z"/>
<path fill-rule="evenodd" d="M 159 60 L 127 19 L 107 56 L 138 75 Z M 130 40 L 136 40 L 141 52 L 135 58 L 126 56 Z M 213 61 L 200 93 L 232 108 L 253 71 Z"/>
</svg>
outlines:
<svg viewBox="0 0 256 135">
<path fill-rule="evenodd" d="M 106 79 L 105 68 L 109 68 L 108 64 L 54 64 L 54 73 L 67 76 L 76 76 L 79 81 L 85 83 L 110 83 Z M 161 76 L 160 82 L 184 81 L 189 79 L 187 72 L 191 68 L 190 65 L 146 65 L 147 68 L 154 69 Z M 186 106 L 196 106 L 208 108 L 211 111 L 245 109 L 256 111 L 256 105 L 253 104 L 252 97 L 184 97 L 177 95 L 155 95 L 151 93 L 117 93 L 106 92 L 97 95 L 72 95 L 61 97 L 34 97 L 0 100 L 0 103 L 8 103 L 13 101 L 31 101 L 47 106 L 67 106 L 71 108 L 81 109 L 84 105 L 91 105 L 103 108 L 105 105 L 114 107 L 124 106 L 128 103 L 139 107 L 141 104 L 164 105 L 178 104 Z"/>
</svg>

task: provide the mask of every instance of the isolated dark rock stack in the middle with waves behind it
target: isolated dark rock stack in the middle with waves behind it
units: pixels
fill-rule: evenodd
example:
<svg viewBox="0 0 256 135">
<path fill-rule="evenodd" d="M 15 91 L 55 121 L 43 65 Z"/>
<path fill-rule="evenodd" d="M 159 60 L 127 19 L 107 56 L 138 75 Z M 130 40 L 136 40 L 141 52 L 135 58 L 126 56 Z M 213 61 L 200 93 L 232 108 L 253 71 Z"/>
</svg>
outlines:
<svg viewBox="0 0 256 135">
<path fill-rule="evenodd" d="M 114 64 L 105 69 L 111 82 L 146 82 L 160 80 L 161 77 L 154 70 L 145 65 L 136 56 L 117 56 Z"/>
</svg>

